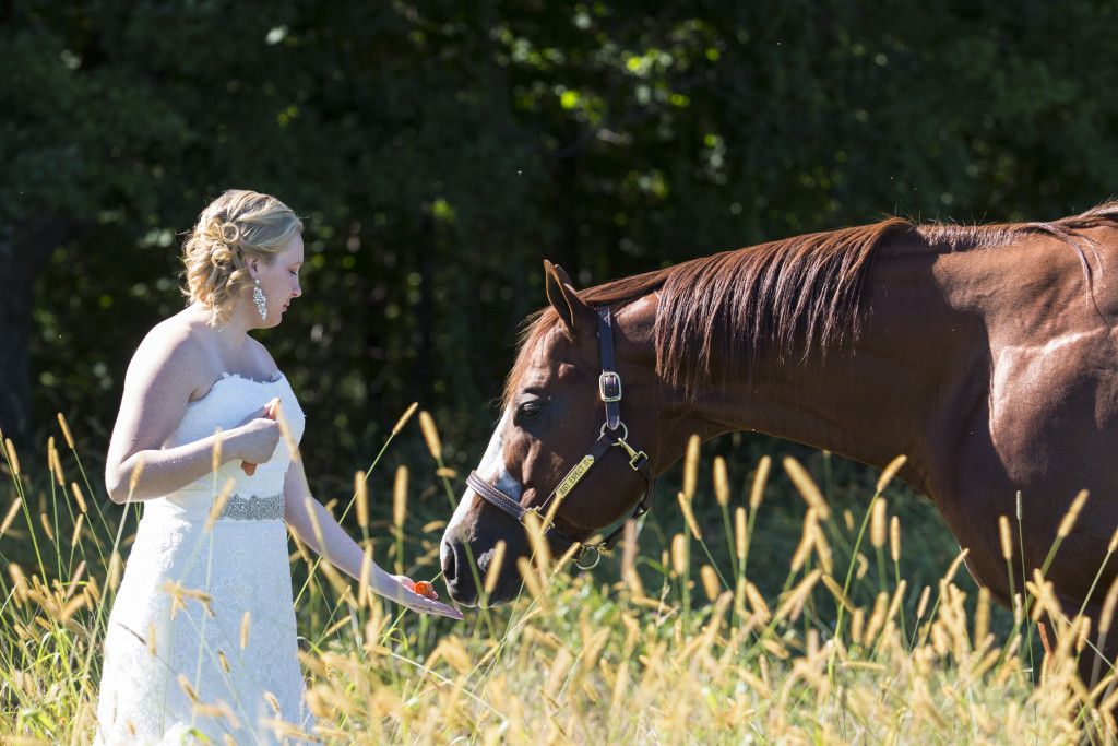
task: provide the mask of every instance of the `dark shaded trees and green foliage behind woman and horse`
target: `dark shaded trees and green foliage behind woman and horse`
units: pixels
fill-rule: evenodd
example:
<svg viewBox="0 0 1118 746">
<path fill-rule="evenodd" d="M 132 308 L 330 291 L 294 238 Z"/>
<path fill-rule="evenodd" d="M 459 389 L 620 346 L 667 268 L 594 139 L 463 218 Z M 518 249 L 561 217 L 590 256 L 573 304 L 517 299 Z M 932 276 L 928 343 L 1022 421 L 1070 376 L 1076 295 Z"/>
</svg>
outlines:
<svg viewBox="0 0 1118 746">
<path fill-rule="evenodd" d="M 309 413 L 312 479 L 339 485 L 413 400 L 448 465 L 476 462 L 543 258 L 588 285 L 883 215 L 1044 220 L 1118 191 L 1110 2 L 0 16 L 0 275 L 35 291 L 26 323 L 0 311 L 0 346 L 29 334 L 35 442 L 61 410 L 104 448 L 132 351 L 181 306 L 180 234 L 229 187 L 306 218 L 305 295 L 262 340 Z"/>
</svg>

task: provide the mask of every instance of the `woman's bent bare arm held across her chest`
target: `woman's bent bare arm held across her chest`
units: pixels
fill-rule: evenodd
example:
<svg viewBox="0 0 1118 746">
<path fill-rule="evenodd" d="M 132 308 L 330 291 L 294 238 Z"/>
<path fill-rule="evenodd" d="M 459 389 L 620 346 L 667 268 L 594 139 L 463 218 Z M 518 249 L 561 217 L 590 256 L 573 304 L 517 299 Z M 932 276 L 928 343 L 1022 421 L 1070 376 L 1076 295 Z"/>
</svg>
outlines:
<svg viewBox="0 0 1118 746">
<path fill-rule="evenodd" d="M 214 470 L 215 437 L 173 448 L 163 444 L 182 422 L 187 404 L 212 384 L 200 343 L 167 322 L 140 344 L 124 379 L 124 396 L 105 463 L 105 487 L 113 502 L 170 494 Z M 201 391 L 205 394 L 205 390 Z M 263 408 L 221 434 L 220 463 L 241 459 L 263 463 L 280 441 Z M 142 463 L 135 484 L 132 475 Z"/>
</svg>

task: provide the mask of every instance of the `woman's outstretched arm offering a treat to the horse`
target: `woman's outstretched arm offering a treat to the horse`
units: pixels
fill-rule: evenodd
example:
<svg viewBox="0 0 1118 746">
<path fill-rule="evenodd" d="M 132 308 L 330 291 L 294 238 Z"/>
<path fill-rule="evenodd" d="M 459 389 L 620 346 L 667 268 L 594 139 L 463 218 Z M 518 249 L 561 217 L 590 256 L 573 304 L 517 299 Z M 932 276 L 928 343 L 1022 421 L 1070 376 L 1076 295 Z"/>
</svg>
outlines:
<svg viewBox="0 0 1118 746">
<path fill-rule="evenodd" d="M 338 521 L 322 507 L 322 503 L 310 494 L 302 466 L 294 461 L 284 480 L 284 520 L 295 532 L 295 536 L 331 565 L 353 579 L 360 580 L 364 551 L 338 525 Z M 315 530 L 315 522 L 318 522 L 318 530 Z M 411 580 L 408 578 L 397 579 L 396 576 L 381 569 L 377 563 L 371 563 L 369 587 L 377 595 L 413 611 L 442 614 L 457 620 L 463 618 L 462 612 L 433 598 L 418 595 L 411 589 Z"/>
</svg>

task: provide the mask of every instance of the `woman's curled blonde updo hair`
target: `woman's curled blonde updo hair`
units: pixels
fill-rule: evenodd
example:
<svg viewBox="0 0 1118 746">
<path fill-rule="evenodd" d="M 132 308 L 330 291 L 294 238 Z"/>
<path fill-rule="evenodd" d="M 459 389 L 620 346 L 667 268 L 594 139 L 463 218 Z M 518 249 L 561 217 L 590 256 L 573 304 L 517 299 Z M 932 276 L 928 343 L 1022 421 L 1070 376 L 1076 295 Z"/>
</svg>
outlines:
<svg viewBox="0 0 1118 746">
<path fill-rule="evenodd" d="M 303 233 L 303 221 L 275 197 L 228 190 L 202 210 L 182 246 L 183 294 L 208 309 L 214 322 L 225 323 L 234 301 L 253 284 L 248 261 L 271 264 L 296 233 Z"/>
</svg>

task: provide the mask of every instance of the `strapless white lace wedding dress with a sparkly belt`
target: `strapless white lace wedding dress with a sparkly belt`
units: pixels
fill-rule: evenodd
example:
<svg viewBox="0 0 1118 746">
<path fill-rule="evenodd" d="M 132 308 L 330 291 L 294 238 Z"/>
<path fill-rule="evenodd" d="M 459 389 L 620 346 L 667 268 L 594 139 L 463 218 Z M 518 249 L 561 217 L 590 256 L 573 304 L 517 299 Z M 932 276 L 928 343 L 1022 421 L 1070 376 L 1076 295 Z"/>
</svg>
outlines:
<svg viewBox="0 0 1118 746">
<path fill-rule="evenodd" d="M 187 405 L 168 445 L 229 429 L 273 397 L 297 442 L 305 418 L 286 378 L 226 375 Z M 253 476 L 230 461 L 144 502 L 105 634 L 97 744 L 282 744 L 312 733 L 283 521 L 290 462 L 281 441 Z"/>
</svg>

